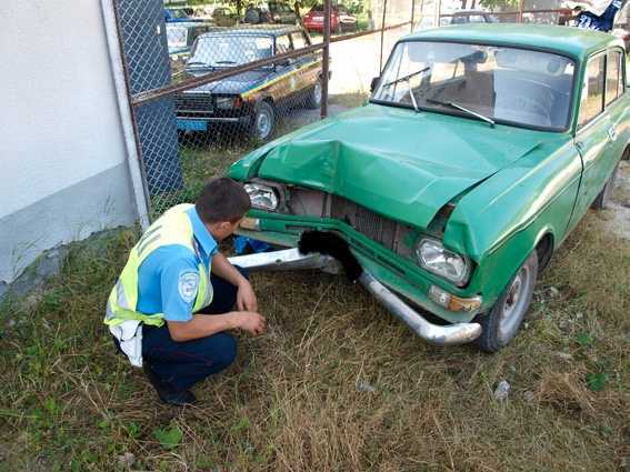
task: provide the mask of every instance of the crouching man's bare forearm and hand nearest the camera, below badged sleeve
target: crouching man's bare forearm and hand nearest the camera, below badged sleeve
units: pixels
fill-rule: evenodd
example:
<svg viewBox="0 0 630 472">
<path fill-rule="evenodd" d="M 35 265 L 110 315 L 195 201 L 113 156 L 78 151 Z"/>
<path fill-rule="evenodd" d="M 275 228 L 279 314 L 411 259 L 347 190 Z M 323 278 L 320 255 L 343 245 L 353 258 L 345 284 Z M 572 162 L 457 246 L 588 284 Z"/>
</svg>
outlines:
<svg viewBox="0 0 630 472">
<path fill-rule="evenodd" d="M 252 335 L 264 331 L 264 318 L 251 311 L 226 314 L 196 314 L 190 321 L 167 321 L 171 339 L 177 342 L 206 338 L 221 331 L 241 329 Z"/>
</svg>

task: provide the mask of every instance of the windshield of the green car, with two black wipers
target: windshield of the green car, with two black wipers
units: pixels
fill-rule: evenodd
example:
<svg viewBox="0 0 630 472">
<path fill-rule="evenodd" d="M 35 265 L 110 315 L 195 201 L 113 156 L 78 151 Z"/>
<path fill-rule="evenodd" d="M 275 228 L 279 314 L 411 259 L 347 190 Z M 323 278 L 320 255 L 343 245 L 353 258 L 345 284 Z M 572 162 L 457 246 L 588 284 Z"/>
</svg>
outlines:
<svg viewBox="0 0 630 472">
<path fill-rule="evenodd" d="M 407 41 L 392 52 L 371 100 L 560 131 L 569 122 L 573 70 L 570 59 L 548 52 Z"/>
</svg>

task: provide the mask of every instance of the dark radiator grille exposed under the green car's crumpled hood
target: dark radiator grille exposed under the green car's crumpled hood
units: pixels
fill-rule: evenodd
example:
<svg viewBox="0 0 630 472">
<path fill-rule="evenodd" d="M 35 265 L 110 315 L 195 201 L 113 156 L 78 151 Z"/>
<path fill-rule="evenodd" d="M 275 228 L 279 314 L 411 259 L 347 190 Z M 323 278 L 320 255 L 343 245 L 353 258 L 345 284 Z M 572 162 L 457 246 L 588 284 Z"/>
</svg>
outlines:
<svg viewBox="0 0 630 472">
<path fill-rule="evenodd" d="M 342 197 L 332 195 L 330 215 L 344 221 L 361 234 L 396 251 L 397 223 Z M 397 244 L 396 244 L 397 245 Z"/>
</svg>

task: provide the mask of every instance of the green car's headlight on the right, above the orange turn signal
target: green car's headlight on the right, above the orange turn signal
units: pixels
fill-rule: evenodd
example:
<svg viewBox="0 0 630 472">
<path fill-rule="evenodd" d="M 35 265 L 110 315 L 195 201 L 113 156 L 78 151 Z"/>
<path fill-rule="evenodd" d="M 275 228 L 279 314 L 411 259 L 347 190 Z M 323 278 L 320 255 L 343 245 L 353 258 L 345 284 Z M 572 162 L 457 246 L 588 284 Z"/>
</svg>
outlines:
<svg viewBox="0 0 630 472">
<path fill-rule="evenodd" d="M 470 263 L 467 258 L 444 249 L 440 241 L 422 239 L 416 248 L 418 262 L 424 269 L 453 282 L 464 285 L 470 273 Z"/>
</svg>

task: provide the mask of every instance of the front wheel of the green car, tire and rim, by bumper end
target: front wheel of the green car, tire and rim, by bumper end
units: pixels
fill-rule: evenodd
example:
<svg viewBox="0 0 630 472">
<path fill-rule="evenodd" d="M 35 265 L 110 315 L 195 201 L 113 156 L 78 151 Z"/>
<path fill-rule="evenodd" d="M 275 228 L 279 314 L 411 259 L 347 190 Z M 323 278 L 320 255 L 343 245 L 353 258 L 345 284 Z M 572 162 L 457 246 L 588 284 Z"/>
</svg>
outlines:
<svg viewBox="0 0 630 472">
<path fill-rule="evenodd" d="M 477 317 L 482 329 L 474 341 L 479 349 L 497 352 L 514 339 L 531 304 L 537 278 L 538 253 L 533 250 L 492 309 Z"/>
</svg>

